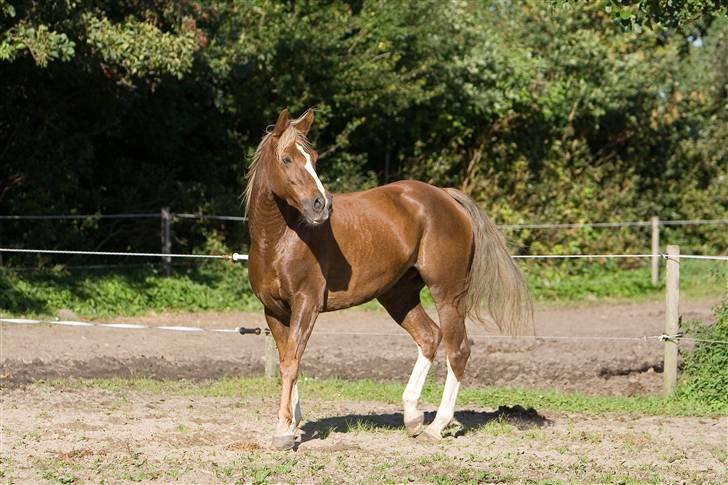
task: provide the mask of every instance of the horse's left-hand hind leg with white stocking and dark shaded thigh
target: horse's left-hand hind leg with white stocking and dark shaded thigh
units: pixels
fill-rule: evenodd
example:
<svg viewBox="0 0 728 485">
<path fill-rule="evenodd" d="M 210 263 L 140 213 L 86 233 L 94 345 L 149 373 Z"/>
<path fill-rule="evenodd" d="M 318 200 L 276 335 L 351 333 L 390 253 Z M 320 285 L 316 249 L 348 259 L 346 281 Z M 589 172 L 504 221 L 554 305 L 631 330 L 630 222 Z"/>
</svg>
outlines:
<svg viewBox="0 0 728 485">
<path fill-rule="evenodd" d="M 420 304 L 422 285 L 408 285 L 410 288 L 402 286 L 404 285 L 393 288 L 380 297 L 379 301 L 417 344 L 417 362 L 402 394 L 405 428 L 410 436 L 417 436 L 424 429 L 425 418 L 424 413 L 417 409 L 417 404 L 440 344 L 441 335 L 438 326 Z"/>
</svg>

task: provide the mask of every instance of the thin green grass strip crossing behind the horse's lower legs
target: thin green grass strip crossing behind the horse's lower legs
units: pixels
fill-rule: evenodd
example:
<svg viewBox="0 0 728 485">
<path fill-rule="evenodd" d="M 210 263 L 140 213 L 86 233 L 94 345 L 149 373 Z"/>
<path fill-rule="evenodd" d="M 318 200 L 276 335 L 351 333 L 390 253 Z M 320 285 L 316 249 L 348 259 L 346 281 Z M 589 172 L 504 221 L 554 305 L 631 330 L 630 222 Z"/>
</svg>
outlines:
<svg viewBox="0 0 728 485">
<path fill-rule="evenodd" d="M 57 380 L 50 385 L 59 388 L 95 388 L 108 391 L 139 391 L 152 394 L 177 394 L 194 397 L 235 397 L 276 399 L 279 384 L 264 378 L 236 378 L 193 382 L 185 380 L 163 381 L 154 379 L 82 379 Z M 302 379 L 301 393 L 309 399 L 322 401 L 364 400 L 400 403 L 401 384 L 383 384 L 370 380 Z M 428 382 L 422 400 L 437 404 L 442 386 Z M 538 411 L 552 410 L 584 414 L 639 414 L 651 416 L 715 416 L 728 413 L 728 400 L 703 403 L 689 398 L 665 399 L 655 395 L 604 396 L 553 390 L 527 390 L 502 387 L 464 388 L 458 397 L 463 406 L 498 407 L 521 405 Z M 354 423 L 353 425 L 356 425 Z"/>
</svg>

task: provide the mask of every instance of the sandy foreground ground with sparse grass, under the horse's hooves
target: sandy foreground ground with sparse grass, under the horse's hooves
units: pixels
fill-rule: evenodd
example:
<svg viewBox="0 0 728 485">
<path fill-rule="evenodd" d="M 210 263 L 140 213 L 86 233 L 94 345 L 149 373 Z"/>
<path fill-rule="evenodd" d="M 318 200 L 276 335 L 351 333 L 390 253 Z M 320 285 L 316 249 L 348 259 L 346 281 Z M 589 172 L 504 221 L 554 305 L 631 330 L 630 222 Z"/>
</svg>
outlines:
<svg viewBox="0 0 728 485">
<path fill-rule="evenodd" d="M 272 400 L 5 389 L 6 483 L 726 483 L 728 419 L 516 408 L 456 417 L 442 443 L 405 435 L 399 406 L 304 396 L 296 451 L 267 449 Z M 427 419 L 433 408 L 426 406 Z"/>
</svg>

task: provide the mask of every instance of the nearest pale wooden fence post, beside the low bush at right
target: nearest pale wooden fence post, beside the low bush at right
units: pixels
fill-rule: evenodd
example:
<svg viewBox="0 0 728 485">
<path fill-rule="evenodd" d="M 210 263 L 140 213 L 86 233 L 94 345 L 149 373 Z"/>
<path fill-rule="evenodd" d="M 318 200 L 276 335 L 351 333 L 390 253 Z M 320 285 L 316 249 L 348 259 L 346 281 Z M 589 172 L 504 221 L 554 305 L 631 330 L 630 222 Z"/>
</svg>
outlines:
<svg viewBox="0 0 728 485">
<path fill-rule="evenodd" d="M 680 331 L 680 246 L 667 246 L 665 264 L 665 335 Z M 672 396 L 677 384 L 677 338 L 665 338 L 662 393 Z"/>
</svg>

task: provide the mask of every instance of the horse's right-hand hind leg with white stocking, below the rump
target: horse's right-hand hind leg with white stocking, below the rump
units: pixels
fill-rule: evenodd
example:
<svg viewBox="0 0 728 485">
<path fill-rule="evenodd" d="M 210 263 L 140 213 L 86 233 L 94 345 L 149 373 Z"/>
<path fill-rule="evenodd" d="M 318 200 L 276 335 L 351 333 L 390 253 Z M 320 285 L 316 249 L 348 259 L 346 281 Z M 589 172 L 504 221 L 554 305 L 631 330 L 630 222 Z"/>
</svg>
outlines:
<svg viewBox="0 0 728 485">
<path fill-rule="evenodd" d="M 420 435 L 423 439 L 442 439 L 442 430 L 455 416 L 460 383 L 465 374 L 465 365 L 470 357 L 470 342 L 465 328 L 465 313 L 460 305 L 446 303 L 437 306 L 442 338 L 447 351 L 447 378 L 440 407 L 435 419 Z"/>
</svg>

